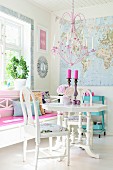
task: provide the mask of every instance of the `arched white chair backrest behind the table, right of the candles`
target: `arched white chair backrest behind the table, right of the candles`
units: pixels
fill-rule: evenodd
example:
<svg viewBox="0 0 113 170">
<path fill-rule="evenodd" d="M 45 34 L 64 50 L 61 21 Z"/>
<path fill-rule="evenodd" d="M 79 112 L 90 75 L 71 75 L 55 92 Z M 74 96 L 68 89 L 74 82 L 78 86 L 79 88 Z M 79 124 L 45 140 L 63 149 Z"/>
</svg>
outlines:
<svg viewBox="0 0 113 170">
<path fill-rule="evenodd" d="M 84 97 L 86 95 L 86 93 L 88 93 L 88 95 L 90 96 L 90 100 L 89 100 L 89 104 L 92 105 L 92 93 L 89 89 L 82 89 L 81 92 L 81 103 L 84 103 Z"/>
</svg>

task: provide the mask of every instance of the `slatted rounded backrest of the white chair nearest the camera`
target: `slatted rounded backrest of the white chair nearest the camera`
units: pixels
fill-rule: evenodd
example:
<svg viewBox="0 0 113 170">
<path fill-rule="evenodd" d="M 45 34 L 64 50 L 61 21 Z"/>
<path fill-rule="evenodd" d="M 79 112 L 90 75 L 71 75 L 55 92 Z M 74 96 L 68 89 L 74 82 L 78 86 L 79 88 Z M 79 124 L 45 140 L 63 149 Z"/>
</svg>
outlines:
<svg viewBox="0 0 113 170">
<path fill-rule="evenodd" d="M 31 104 L 32 101 L 32 104 Z M 23 87 L 20 91 L 20 102 L 24 116 L 24 127 L 28 129 L 27 132 L 32 133 L 32 129 L 34 129 L 35 139 L 39 143 L 40 142 L 40 123 L 38 116 L 38 109 L 36 106 L 35 96 L 33 92 L 28 87 Z M 33 105 L 34 109 L 31 109 Z M 34 110 L 35 118 L 33 118 L 32 111 Z"/>
</svg>

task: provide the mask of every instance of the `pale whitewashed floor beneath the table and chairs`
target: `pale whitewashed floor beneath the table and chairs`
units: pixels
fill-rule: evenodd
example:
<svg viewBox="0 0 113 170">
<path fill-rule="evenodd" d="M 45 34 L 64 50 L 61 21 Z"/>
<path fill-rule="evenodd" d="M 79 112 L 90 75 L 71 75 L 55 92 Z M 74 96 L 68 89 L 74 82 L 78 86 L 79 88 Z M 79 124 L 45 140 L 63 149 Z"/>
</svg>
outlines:
<svg viewBox="0 0 113 170">
<path fill-rule="evenodd" d="M 0 139 L 1 140 L 1 139 Z M 46 146 L 47 140 L 41 146 Z M 29 147 L 32 148 L 31 140 Z M 89 157 L 80 148 L 71 147 L 71 165 L 66 165 L 66 159 L 58 162 L 56 159 L 39 160 L 38 170 L 113 170 L 113 136 L 94 137 L 93 150 L 100 153 L 100 159 Z M 22 162 L 22 143 L 0 149 L 0 170 L 34 170 L 34 154 L 29 153 L 27 162 Z"/>
</svg>

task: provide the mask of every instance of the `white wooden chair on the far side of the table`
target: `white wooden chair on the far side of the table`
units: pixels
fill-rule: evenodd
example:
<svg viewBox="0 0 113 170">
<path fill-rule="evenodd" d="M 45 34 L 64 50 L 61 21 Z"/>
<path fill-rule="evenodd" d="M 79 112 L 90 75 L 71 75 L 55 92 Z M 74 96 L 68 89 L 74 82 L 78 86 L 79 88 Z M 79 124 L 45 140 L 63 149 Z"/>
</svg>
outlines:
<svg viewBox="0 0 113 170">
<path fill-rule="evenodd" d="M 88 89 L 80 89 L 80 102 L 81 105 L 84 102 L 84 96 L 85 93 L 89 93 L 90 95 L 90 101 L 89 104 L 92 105 L 92 94 Z M 83 137 L 81 134 L 83 134 L 85 131 L 82 128 L 83 125 L 86 126 L 87 124 L 87 118 L 84 115 L 84 113 L 68 113 L 67 117 L 64 118 L 64 126 L 68 127 L 69 131 L 71 132 L 70 138 L 71 138 L 71 143 L 75 143 L 75 128 L 78 128 L 78 137 L 79 141 L 83 140 Z M 93 122 L 91 122 L 91 139 L 90 139 L 90 145 L 93 145 Z"/>
</svg>

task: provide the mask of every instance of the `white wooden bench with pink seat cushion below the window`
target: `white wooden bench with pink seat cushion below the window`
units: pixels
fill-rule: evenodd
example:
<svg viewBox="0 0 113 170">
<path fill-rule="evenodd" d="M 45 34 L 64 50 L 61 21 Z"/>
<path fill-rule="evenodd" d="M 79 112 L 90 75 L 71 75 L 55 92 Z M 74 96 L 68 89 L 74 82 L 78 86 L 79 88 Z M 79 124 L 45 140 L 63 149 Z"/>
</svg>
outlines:
<svg viewBox="0 0 113 170">
<path fill-rule="evenodd" d="M 23 117 L 13 116 L 12 101 L 19 98 L 19 91 L 0 91 L 0 148 L 10 146 L 24 139 Z M 55 123 L 57 114 L 46 113 L 40 121 Z"/>
</svg>

